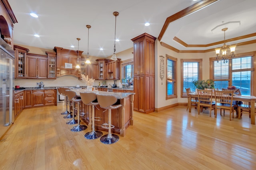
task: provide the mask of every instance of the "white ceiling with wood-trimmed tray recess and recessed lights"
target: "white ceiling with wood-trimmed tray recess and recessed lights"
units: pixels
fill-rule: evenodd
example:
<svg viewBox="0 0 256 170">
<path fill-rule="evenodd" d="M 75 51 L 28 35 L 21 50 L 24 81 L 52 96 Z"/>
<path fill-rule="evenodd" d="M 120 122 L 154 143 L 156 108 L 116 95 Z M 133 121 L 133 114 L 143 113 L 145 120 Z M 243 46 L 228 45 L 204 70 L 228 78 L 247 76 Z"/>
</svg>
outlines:
<svg viewBox="0 0 256 170">
<path fill-rule="evenodd" d="M 205 51 L 256 40 L 256 0 L 8 0 L 18 23 L 14 24 L 14 44 L 53 49 L 79 50 L 86 55 L 108 57 L 133 47 L 132 38 L 148 33 L 177 52 Z M 196 3 L 210 5 L 201 10 L 188 8 Z M 201 6 L 202 7 L 202 6 Z M 186 10 L 184 10 L 187 8 Z M 183 11 L 182 11 L 183 10 Z M 181 11 L 181 12 L 180 12 Z M 195 11 L 195 12 L 194 12 Z M 29 14 L 34 12 L 38 18 Z M 180 12 L 180 13 L 178 13 Z M 192 12 L 192 14 L 189 14 Z M 178 13 L 178 14 L 177 14 Z M 149 22 L 149 26 L 144 23 Z M 223 24 L 224 23 L 224 24 Z M 225 24 L 226 23 L 226 24 Z M 217 25 L 222 25 L 216 27 Z M 216 27 L 216 29 L 214 29 Z M 212 31 L 214 29 L 214 31 Z M 34 34 L 40 37 L 34 37 Z M 70 47 L 74 45 L 74 47 Z M 103 50 L 100 50 L 103 48 Z M 239 48 L 239 47 L 237 47 Z M 119 56 L 117 55 L 119 58 Z"/>
</svg>

